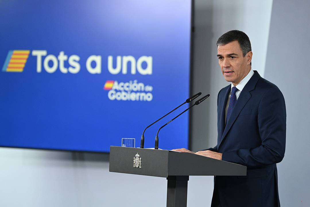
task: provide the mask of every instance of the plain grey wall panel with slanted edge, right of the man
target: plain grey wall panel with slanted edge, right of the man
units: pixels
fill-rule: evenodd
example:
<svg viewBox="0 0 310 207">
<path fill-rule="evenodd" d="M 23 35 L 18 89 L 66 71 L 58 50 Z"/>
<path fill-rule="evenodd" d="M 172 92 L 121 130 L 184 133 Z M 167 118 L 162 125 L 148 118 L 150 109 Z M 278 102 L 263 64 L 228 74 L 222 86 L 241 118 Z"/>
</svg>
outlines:
<svg viewBox="0 0 310 207">
<path fill-rule="evenodd" d="M 310 1 L 274 0 L 265 77 L 286 103 L 286 151 L 278 166 L 281 206 L 310 206 L 308 132 Z"/>
</svg>

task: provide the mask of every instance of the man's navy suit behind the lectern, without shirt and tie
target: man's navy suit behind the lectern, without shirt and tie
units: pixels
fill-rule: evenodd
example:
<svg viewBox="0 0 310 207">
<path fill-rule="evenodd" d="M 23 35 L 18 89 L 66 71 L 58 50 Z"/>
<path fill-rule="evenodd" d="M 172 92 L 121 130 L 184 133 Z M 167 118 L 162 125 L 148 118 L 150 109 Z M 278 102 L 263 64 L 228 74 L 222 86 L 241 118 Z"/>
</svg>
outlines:
<svg viewBox="0 0 310 207">
<path fill-rule="evenodd" d="M 230 91 L 231 85 L 219 91 L 217 145 L 209 150 L 223 153 L 224 161 L 247 166 L 247 175 L 216 176 L 213 197 L 218 191 L 223 207 L 280 206 L 276 163 L 285 152 L 284 97 L 276 85 L 254 71 L 225 126 Z"/>
</svg>

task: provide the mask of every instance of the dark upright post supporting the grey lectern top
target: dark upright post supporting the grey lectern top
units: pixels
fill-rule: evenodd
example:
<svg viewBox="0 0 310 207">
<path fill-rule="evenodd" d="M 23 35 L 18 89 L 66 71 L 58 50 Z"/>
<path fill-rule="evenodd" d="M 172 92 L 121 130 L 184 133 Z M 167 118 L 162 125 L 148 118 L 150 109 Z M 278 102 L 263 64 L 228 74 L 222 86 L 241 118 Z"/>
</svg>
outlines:
<svg viewBox="0 0 310 207">
<path fill-rule="evenodd" d="M 167 207 L 186 207 L 189 176 L 168 176 Z"/>
</svg>

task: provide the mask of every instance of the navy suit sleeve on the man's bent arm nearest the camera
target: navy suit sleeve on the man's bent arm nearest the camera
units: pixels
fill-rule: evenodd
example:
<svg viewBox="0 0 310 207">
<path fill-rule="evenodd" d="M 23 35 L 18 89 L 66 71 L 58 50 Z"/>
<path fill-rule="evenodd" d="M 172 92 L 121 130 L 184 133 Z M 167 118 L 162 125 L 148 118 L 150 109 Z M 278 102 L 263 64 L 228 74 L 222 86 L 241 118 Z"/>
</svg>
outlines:
<svg viewBox="0 0 310 207">
<path fill-rule="evenodd" d="M 281 162 L 286 142 L 286 107 L 284 97 L 278 88 L 270 88 L 263 95 L 257 119 L 261 145 L 224 152 L 222 160 L 246 165 L 249 168 Z"/>
</svg>

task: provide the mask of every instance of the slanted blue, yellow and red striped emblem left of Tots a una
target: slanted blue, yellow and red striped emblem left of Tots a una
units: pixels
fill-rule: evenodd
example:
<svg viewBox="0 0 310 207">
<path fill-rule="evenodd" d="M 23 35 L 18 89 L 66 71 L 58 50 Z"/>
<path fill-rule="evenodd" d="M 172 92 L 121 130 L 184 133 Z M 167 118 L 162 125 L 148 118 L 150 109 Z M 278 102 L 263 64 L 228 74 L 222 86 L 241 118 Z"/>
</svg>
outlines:
<svg viewBox="0 0 310 207">
<path fill-rule="evenodd" d="M 4 61 L 2 72 L 23 72 L 30 50 L 10 50 Z"/>
</svg>

